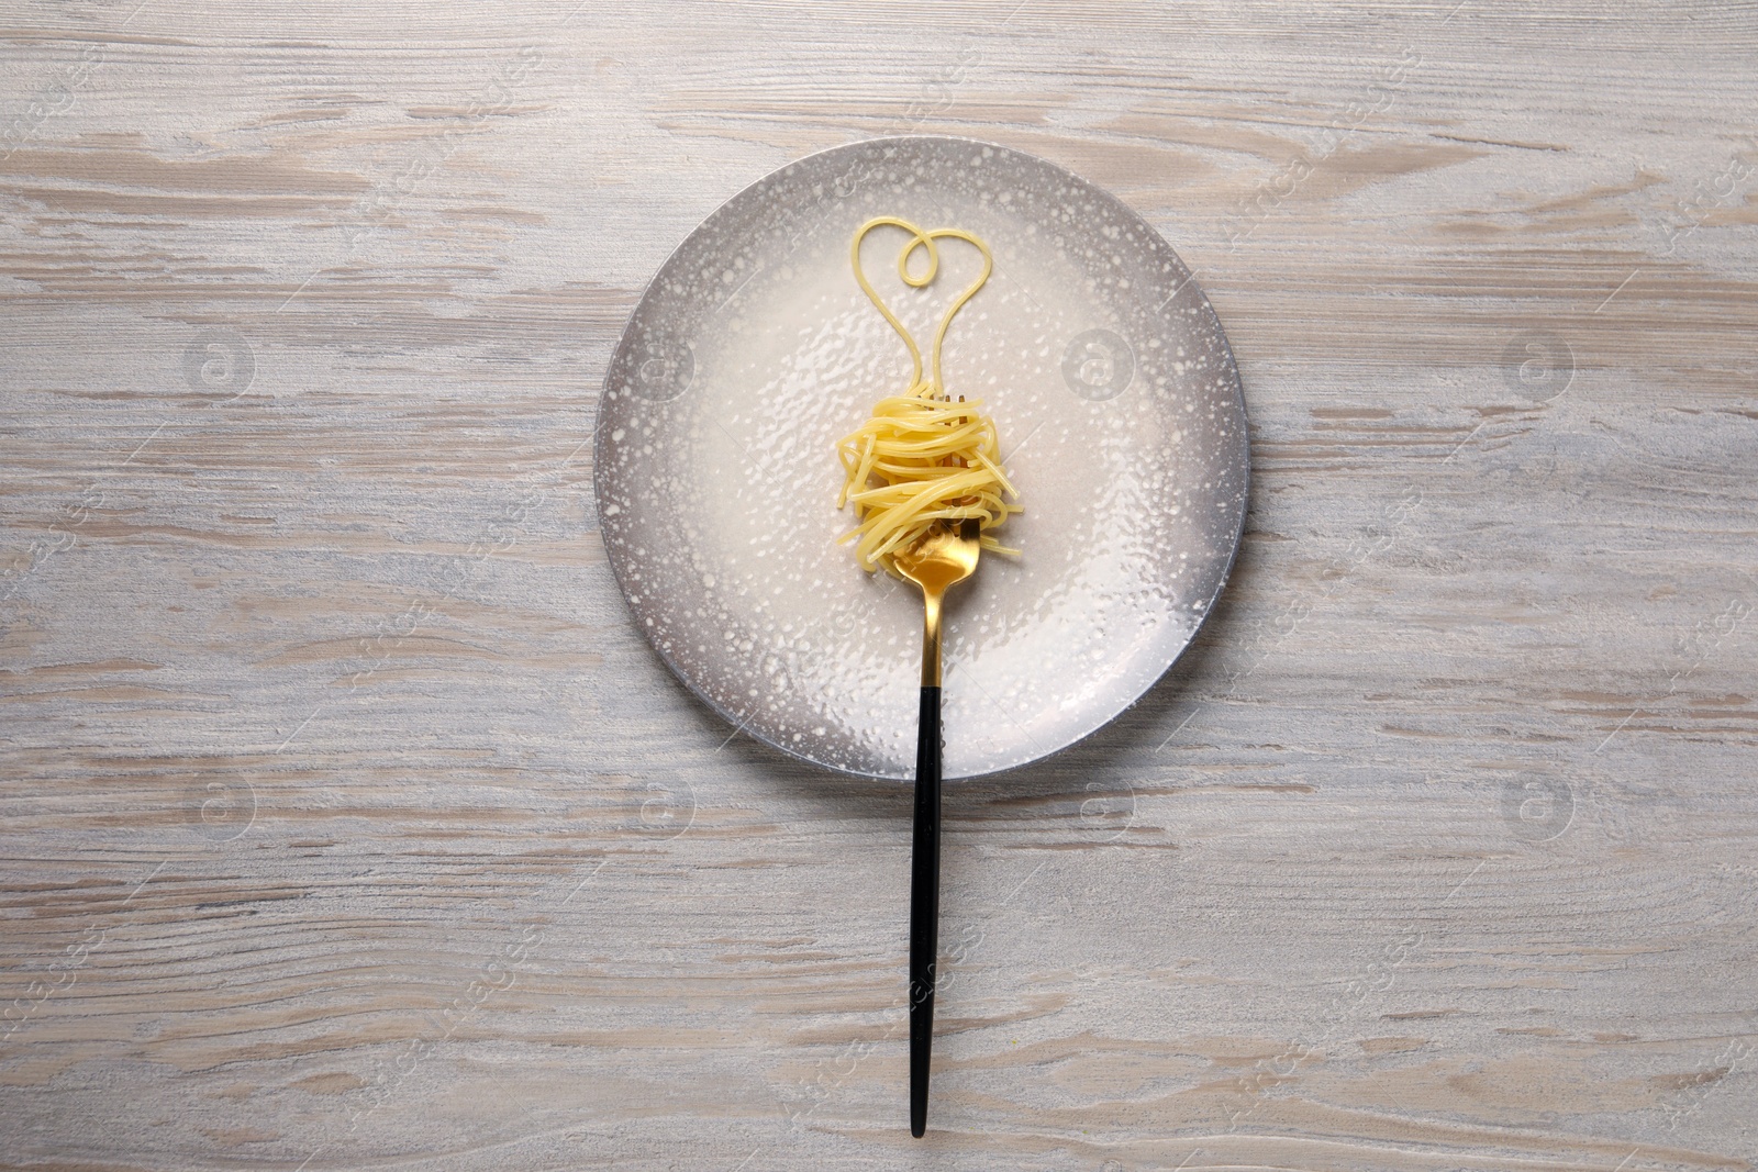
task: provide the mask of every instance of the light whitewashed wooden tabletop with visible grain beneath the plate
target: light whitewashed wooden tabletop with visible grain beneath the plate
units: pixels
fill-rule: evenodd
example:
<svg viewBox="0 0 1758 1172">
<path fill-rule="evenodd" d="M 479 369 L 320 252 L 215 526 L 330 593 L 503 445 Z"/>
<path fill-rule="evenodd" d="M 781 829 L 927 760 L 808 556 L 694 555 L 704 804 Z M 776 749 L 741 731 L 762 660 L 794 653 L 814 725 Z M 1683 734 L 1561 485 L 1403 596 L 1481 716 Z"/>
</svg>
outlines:
<svg viewBox="0 0 1758 1172">
<path fill-rule="evenodd" d="M 1746 1168 L 1758 14 L 5 5 L 0 1163 Z M 1252 518 L 1130 713 L 949 794 L 691 701 L 592 413 L 723 199 L 1109 186 Z"/>
</svg>

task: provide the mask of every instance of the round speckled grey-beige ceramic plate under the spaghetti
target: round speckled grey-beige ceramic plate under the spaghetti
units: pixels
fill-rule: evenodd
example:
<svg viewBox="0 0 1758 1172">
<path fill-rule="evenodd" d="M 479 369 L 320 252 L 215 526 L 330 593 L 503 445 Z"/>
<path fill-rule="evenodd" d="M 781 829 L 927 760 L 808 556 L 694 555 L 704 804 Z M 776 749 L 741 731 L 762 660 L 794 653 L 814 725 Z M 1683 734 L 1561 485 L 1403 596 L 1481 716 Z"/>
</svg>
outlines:
<svg viewBox="0 0 1758 1172">
<path fill-rule="evenodd" d="M 946 137 L 812 155 L 745 188 L 666 260 L 605 378 L 596 494 L 635 622 L 737 729 L 833 770 L 914 775 L 921 596 L 837 538 L 837 441 L 909 385 L 849 241 L 874 216 L 983 237 L 990 283 L 946 336 L 1025 513 L 948 594 L 944 771 L 1051 754 L 1188 647 L 1239 543 L 1239 374 L 1171 246 L 1032 155 Z M 921 290 L 877 228 L 868 279 L 918 339 L 979 272 L 942 241 Z M 919 255 L 918 255 L 919 262 Z M 926 350 L 926 346 L 923 346 Z"/>
</svg>

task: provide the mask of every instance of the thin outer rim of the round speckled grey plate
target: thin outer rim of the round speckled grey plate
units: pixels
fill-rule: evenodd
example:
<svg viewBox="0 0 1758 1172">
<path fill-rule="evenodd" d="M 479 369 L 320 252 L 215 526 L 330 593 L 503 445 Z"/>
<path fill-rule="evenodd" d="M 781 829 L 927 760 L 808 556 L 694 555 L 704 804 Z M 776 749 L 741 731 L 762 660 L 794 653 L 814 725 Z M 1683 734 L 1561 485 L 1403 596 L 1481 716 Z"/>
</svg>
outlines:
<svg viewBox="0 0 1758 1172">
<path fill-rule="evenodd" d="M 1160 668 L 1160 671 L 1151 680 L 1148 680 L 1148 684 L 1143 685 L 1143 689 L 1139 692 L 1136 692 L 1129 699 L 1129 703 L 1125 703 L 1115 713 L 1111 713 L 1109 717 L 1106 717 L 1104 720 L 1101 720 L 1099 724 L 1095 724 L 1088 731 L 1081 733 L 1074 740 L 1071 740 L 1071 742 L 1067 742 L 1064 745 L 1058 745 L 1057 749 L 1051 749 L 1050 752 L 1039 754 L 1039 756 L 1035 756 L 1035 757 L 1032 757 L 1028 761 L 1021 761 L 1018 764 L 1004 764 L 1004 766 L 997 766 L 993 770 L 983 770 L 979 773 L 960 773 L 958 777 L 946 777 L 944 778 L 948 782 L 970 782 L 970 780 L 977 780 L 977 778 L 984 778 L 984 777 L 997 777 L 1000 773 L 1009 773 L 1013 770 L 1028 770 L 1028 768 L 1042 764 L 1044 761 L 1058 757 L 1058 756 L 1069 752 L 1071 749 L 1074 749 L 1076 745 L 1081 745 L 1083 742 L 1086 742 L 1086 740 L 1097 736 L 1099 733 L 1102 733 L 1104 729 L 1111 727 L 1111 724 L 1115 724 L 1118 720 L 1118 717 L 1122 717 L 1125 712 L 1129 712 L 1130 708 L 1134 708 L 1136 705 L 1139 705 L 1143 701 L 1143 698 L 1148 692 L 1151 692 L 1155 687 L 1159 687 L 1159 684 L 1171 673 L 1171 669 L 1178 666 L 1178 661 L 1183 659 L 1185 654 L 1195 645 L 1197 636 L 1202 633 L 1202 627 L 1208 626 L 1210 615 L 1215 613 L 1215 603 L 1220 601 L 1222 592 L 1225 592 L 1227 583 L 1232 580 L 1232 569 L 1234 569 L 1234 566 L 1239 561 L 1239 546 L 1245 545 L 1245 522 L 1252 515 L 1252 436 L 1250 436 L 1250 413 L 1246 411 L 1246 402 L 1245 402 L 1245 380 L 1239 376 L 1239 362 L 1238 362 L 1238 358 L 1232 353 L 1232 339 L 1227 336 L 1225 323 L 1222 323 L 1220 315 L 1215 311 L 1215 306 L 1210 302 L 1208 292 L 1202 288 L 1201 283 L 1197 283 L 1195 271 L 1190 269 L 1188 264 L 1185 264 L 1185 258 L 1178 253 L 1176 248 L 1173 248 L 1173 242 L 1169 239 L 1166 239 L 1166 234 L 1160 232 L 1153 223 L 1150 223 L 1146 216 L 1143 216 L 1139 211 L 1136 211 L 1136 207 L 1132 204 L 1129 204 L 1127 200 L 1123 200 L 1120 195 L 1115 195 L 1109 188 L 1104 188 L 1104 186 L 1093 183 L 1092 179 L 1088 179 L 1086 176 L 1079 174 L 1078 170 L 1074 170 L 1071 167 L 1064 167 L 1062 163 L 1058 163 L 1055 160 L 1050 160 L 1050 158 L 1044 158 L 1042 155 L 1035 155 L 1032 151 L 1021 151 L 1020 148 L 1013 148 L 1013 146 L 1002 146 L 1000 142 L 990 142 L 988 139 L 976 139 L 976 137 L 970 137 L 970 135 L 956 135 L 956 134 L 893 134 L 893 135 L 881 135 L 881 137 L 875 137 L 875 139 L 856 139 L 854 142 L 840 142 L 837 146 L 826 146 L 826 148 L 821 148 L 817 151 L 809 151 L 809 153 L 805 153 L 805 155 L 802 155 L 798 158 L 793 158 L 793 160 L 788 160 L 786 163 L 781 163 L 779 167 L 772 167 L 770 170 L 765 170 L 761 176 L 758 176 L 756 179 L 752 179 L 751 183 L 744 184 L 742 188 L 738 188 L 737 192 L 733 192 L 731 195 L 728 195 L 724 200 L 721 200 L 719 204 L 716 204 L 714 209 L 707 216 L 703 216 L 701 221 L 698 221 L 694 228 L 691 228 L 689 232 L 684 234 L 684 237 L 672 248 L 672 251 L 666 253 L 665 260 L 661 260 L 659 265 L 652 271 L 652 276 L 647 278 L 647 283 L 642 286 L 642 295 L 636 297 L 635 304 L 629 307 L 629 315 L 628 315 L 628 318 L 622 323 L 622 330 L 617 334 L 617 344 L 612 346 L 610 358 L 605 364 L 605 378 L 603 378 L 603 381 L 599 385 L 598 406 L 592 411 L 592 517 L 598 522 L 598 539 L 599 539 L 599 545 L 605 548 L 605 561 L 610 564 L 610 575 L 612 575 L 612 578 L 617 583 L 617 592 L 622 596 L 622 604 L 628 608 L 629 617 L 635 620 L 635 629 L 640 633 L 640 636 L 647 643 L 647 647 L 652 648 L 652 652 L 666 666 L 666 669 L 672 673 L 672 676 L 677 678 L 677 682 L 684 685 L 686 692 L 689 692 L 698 701 L 701 701 L 703 705 L 707 705 L 708 710 L 714 715 L 721 717 L 723 720 L 726 720 L 728 724 L 733 726 L 733 736 L 737 736 L 740 731 L 744 731 L 747 736 L 751 736 L 751 740 L 758 742 L 759 745 L 774 749 L 774 750 L 777 750 L 777 752 L 781 752 L 781 754 L 784 754 L 788 757 L 793 757 L 796 761 L 803 761 L 803 763 L 807 763 L 807 764 L 810 764 L 810 766 L 814 766 L 817 770 L 825 770 L 828 773 L 840 773 L 844 777 L 865 777 L 865 778 L 872 778 L 872 780 L 879 780 L 879 782 L 893 782 L 893 784 L 914 784 L 911 778 L 897 778 L 897 777 L 890 777 L 886 773 L 868 773 L 865 770 L 851 770 L 847 766 L 828 764 L 825 761 L 819 761 L 817 757 L 809 757 L 803 752 L 789 749 L 784 743 L 772 742 L 766 736 L 763 736 L 758 731 L 754 731 L 754 729 L 751 729 L 751 727 L 745 726 L 745 722 L 751 719 L 751 713 L 745 713 L 744 717 L 737 717 L 737 715 L 730 713 L 726 708 L 723 708 L 712 696 L 705 694 L 700 687 L 696 687 L 696 682 L 691 680 L 689 675 L 682 668 L 679 668 L 679 664 L 672 659 L 672 655 L 668 655 L 665 652 L 665 648 L 661 648 L 659 643 L 654 641 L 654 636 L 649 634 L 647 627 L 642 626 L 640 615 L 635 611 L 635 603 L 629 601 L 629 587 L 622 580 L 622 569 L 617 566 L 617 559 L 612 555 L 608 543 L 605 543 L 605 515 L 603 515 L 603 508 L 605 508 L 605 460 L 603 460 L 603 455 L 605 455 L 605 452 L 603 452 L 603 448 L 605 448 L 605 427 L 603 427 L 603 422 L 605 420 L 603 420 L 603 416 L 605 416 L 605 402 L 607 402 L 607 397 L 608 397 L 608 392 L 610 392 L 610 376 L 617 369 L 617 358 L 622 355 L 622 350 L 624 350 L 624 346 L 629 341 L 629 334 L 635 329 L 635 318 L 640 315 L 642 306 L 647 304 L 647 297 L 659 285 L 659 278 L 665 276 L 665 271 L 672 265 L 673 260 L 677 260 L 679 253 L 682 253 L 684 248 L 689 246 L 689 242 L 696 237 L 696 234 L 700 234 L 716 216 L 719 216 L 723 211 L 726 211 L 726 207 L 730 204 L 733 204 L 735 200 L 742 199 L 747 192 L 751 192 L 751 190 L 754 190 L 754 188 L 768 183 L 770 179 L 774 179 L 781 172 L 788 170 L 789 167 L 798 167 L 800 163 L 805 163 L 805 162 L 810 162 L 814 158 L 821 158 L 821 156 L 826 156 L 826 155 L 837 155 L 837 153 L 842 153 L 842 151 L 854 151 L 854 149 L 861 149 L 861 148 L 875 148 L 875 146 L 883 146 L 883 144 L 888 144 L 888 142 L 963 142 L 963 144 L 981 146 L 981 148 L 988 148 L 988 149 L 995 149 L 995 151 L 1006 151 L 1009 155 L 1021 155 L 1021 156 L 1025 156 L 1025 158 L 1028 158 L 1032 162 L 1037 162 L 1037 163 L 1042 163 L 1046 167 L 1053 167 L 1055 170 L 1060 170 L 1064 176 L 1074 179 L 1083 188 L 1088 188 L 1090 192 L 1097 193 L 1099 197 L 1111 200 L 1113 204 L 1116 204 L 1116 207 L 1120 207 L 1123 211 L 1125 216 L 1132 218 L 1137 225 L 1141 225 L 1143 228 L 1146 228 L 1148 232 L 1151 232 L 1155 237 L 1159 237 L 1160 242 L 1166 244 L 1167 250 L 1171 250 L 1173 257 L 1178 258 L 1178 264 L 1183 265 L 1185 272 L 1188 274 L 1187 281 L 1195 286 L 1195 293 L 1197 293 L 1197 297 L 1202 299 L 1202 306 L 1210 311 L 1210 316 L 1215 318 L 1215 325 L 1218 327 L 1220 344 L 1222 344 L 1222 350 L 1225 351 L 1225 357 L 1227 357 L 1227 365 L 1232 369 L 1234 397 L 1236 397 L 1236 402 L 1238 402 L 1238 408 L 1239 408 L 1239 418 L 1241 418 L 1241 422 L 1245 425 L 1243 430 L 1241 430 L 1241 452 L 1243 452 L 1241 476 L 1243 476 L 1243 480 L 1241 480 L 1241 485 L 1239 485 L 1239 501 L 1243 504 L 1239 508 L 1238 524 L 1234 525 L 1232 534 L 1229 538 L 1227 564 L 1222 566 L 1220 576 L 1215 580 L 1215 590 L 1206 599 L 1202 599 L 1202 610 L 1199 611 L 1199 617 L 1197 617 L 1195 624 L 1192 624 L 1192 627 L 1190 627 L 1188 638 L 1185 638 L 1185 641 L 1178 648 L 1178 652 L 1173 654 L 1173 657 L 1166 662 L 1166 666 Z M 731 740 L 731 738 L 728 738 L 728 740 Z"/>
</svg>

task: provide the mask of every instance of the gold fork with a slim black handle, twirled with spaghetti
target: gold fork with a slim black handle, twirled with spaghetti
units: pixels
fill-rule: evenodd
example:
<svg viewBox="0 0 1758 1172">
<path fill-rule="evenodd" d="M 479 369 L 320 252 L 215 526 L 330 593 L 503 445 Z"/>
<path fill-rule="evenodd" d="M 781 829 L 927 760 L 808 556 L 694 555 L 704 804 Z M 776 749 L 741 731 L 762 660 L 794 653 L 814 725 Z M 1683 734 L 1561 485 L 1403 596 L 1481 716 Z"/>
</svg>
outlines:
<svg viewBox="0 0 1758 1172">
<path fill-rule="evenodd" d="M 909 880 L 909 1133 L 928 1126 L 933 966 L 941 926 L 941 599 L 981 553 L 977 520 L 941 522 L 893 561 L 921 587 L 921 715 L 916 724 L 916 833 Z"/>
</svg>

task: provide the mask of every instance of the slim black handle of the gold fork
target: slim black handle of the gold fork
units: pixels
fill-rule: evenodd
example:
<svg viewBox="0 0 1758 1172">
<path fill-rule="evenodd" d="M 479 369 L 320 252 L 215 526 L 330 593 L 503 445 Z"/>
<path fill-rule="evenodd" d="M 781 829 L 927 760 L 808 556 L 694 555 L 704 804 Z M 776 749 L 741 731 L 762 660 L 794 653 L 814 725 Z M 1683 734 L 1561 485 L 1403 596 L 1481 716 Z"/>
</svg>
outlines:
<svg viewBox="0 0 1758 1172">
<path fill-rule="evenodd" d="M 916 842 L 909 877 L 909 1133 L 928 1128 L 933 963 L 941 937 L 941 689 L 921 689 L 916 724 Z"/>
</svg>

